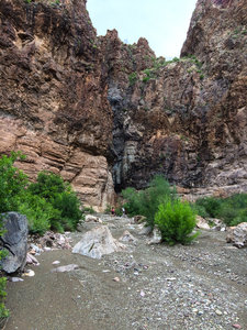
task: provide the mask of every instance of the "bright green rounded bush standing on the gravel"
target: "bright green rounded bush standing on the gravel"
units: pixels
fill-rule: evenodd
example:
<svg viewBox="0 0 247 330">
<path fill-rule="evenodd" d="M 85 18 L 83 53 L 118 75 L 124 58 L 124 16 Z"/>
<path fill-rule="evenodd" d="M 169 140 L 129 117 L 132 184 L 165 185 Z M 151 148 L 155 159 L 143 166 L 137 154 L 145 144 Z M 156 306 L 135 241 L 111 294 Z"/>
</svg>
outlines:
<svg viewBox="0 0 247 330">
<path fill-rule="evenodd" d="M 165 199 L 155 215 L 155 223 L 161 239 L 168 244 L 190 243 L 199 233 L 191 235 L 195 227 L 195 215 L 188 202 Z"/>
</svg>

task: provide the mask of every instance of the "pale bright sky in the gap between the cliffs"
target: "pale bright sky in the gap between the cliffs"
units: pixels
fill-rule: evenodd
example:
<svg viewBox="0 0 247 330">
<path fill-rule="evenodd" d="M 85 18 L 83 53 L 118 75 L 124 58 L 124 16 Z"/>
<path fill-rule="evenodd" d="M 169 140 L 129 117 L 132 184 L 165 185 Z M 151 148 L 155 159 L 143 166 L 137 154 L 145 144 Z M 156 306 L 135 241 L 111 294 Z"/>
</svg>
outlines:
<svg viewBox="0 0 247 330">
<path fill-rule="evenodd" d="M 197 0 L 88 0 L 98 35 L 116 29 L 125 43 L 146 37 L 156 56 L 180 55 Z"/>
</svg>

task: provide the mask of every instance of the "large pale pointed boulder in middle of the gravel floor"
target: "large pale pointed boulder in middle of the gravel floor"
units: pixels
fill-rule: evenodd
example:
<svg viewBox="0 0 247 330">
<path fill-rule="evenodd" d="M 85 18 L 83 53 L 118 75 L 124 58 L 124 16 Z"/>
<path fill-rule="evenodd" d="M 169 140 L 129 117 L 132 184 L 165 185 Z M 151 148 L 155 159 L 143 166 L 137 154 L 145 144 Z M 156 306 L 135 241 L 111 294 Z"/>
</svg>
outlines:
<svg viewBox="0 0 247 330">
<path fill-rule="evenodd" d="M 72 253 L 101 258 L 103 254 L 123 251 L 125 248 L 124 244 L 112 237 L 106 226 L 100 226 L 86 232 L 74 246 Z"/>
</svg>

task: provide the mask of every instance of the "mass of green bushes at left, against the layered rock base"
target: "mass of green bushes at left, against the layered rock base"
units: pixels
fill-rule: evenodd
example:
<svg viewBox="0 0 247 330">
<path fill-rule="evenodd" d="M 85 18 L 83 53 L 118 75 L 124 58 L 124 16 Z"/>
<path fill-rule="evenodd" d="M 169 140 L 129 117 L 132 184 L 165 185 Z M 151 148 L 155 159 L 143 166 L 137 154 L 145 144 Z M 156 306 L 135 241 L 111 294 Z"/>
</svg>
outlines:
<svg viewBox="0 0 247 330">
<path fill-rule="evenodd" d="M 56 174 L 41 172 L 37 182 L 13 166 L 24 156 L 11 153 L 0 158 L 0 212 L 19 211 L 26 216 L 31 233 L 46 230 L 75 230 L 82 218 L 80 201 L 71 186 Z"/>
</svg>

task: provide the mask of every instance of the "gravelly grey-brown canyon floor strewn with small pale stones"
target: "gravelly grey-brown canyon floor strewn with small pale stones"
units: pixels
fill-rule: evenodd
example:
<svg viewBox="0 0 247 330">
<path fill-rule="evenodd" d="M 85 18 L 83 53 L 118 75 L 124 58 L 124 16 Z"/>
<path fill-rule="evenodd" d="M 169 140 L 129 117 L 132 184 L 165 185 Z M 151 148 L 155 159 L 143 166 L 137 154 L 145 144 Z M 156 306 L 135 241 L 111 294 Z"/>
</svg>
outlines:
<svg viewBox="0 0 247 330">
<path fill-rule="evenodd" d="M 188 246 L 148 245 L 131 219 L 100 217 L 114 238 L 128 230 L 136 242 L 101 260 L 42 253 L 34 277 L 8 283 L 5 330 L 247 329 L 247 249 L 213 230 Z M 74 245 L 81 232 L 70 237 Z M 56 260 L 79 268 L 50 273 Z"/>
</svg>

